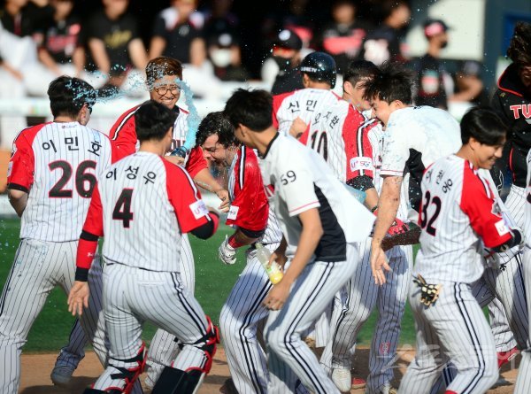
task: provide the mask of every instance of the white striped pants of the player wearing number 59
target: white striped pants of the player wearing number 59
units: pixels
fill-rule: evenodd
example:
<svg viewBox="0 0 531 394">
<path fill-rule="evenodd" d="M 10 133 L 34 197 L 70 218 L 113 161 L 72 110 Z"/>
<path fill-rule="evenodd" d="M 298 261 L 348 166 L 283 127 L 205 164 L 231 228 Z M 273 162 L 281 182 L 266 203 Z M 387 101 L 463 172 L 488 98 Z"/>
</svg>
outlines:
<svg viewBox="0 0 531 394">
<path fill-rule="evenodd" d="M 270 381 L 267 392 L 295 392 L 296 376 L 315 394 L 339 394 L 334 382 L 304 344 L 304 333 L 330 304 L 358 266 L 358 244 L 347 243 L 347 260 L 315 261 L 304 268 L 280 311 L 269 313 L 265 336 Z"/>
</svg>

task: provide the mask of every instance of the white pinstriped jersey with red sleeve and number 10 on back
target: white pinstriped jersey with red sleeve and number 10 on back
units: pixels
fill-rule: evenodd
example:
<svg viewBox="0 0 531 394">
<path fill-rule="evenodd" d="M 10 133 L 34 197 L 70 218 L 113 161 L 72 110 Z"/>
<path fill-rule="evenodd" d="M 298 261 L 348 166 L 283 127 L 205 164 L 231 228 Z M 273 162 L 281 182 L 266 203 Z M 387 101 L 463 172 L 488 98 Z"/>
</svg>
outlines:
<svg viewBox="0 0 531 394">
<path fill-rule="evenodd" d="M 299 141 L 317 151 L 332 168 L 336 178 L 347 183 L 354 177 L 357 153 L 354 130 L 364 121 L 363 115 L 349 102 L 339 100 L 323 108 L 311 120 L 308 133 L 304 133 Z"/>
</svg>

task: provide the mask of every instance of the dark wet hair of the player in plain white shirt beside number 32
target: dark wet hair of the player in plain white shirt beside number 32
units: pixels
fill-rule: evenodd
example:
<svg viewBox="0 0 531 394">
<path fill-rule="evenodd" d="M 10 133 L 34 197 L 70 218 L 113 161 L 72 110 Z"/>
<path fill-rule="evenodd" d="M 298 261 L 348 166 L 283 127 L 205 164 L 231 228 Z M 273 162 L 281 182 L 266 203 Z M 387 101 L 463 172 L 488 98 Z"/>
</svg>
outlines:
<svg viewBox="0 0 531 394">
<path fill-rule="evenodd" d="M 391 104 L 399 100 L 404 104 L 412 104 L 415 87 L 415 74 L 400 63 L 385 62 L 373 79 L 364 84 L 365 98 L 378 98 Z"/>
</svg>

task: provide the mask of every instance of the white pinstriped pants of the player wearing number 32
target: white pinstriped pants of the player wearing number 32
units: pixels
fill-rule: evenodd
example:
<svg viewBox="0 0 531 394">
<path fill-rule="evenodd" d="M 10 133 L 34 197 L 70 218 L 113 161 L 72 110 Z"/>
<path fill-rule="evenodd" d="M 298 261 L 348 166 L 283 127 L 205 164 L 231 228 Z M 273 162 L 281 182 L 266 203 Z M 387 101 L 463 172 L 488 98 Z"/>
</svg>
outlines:
<svg viewBox="0 0 531 394">
<path fill-rule="evenodd" d="M 420 302 L 411 283 L 410 305 L 417 328 L 417 354 L 407 368 L 399 393 L 429 393 L 450 361 L 458 374 L 447 390 L 482 394 L 497 378 L 496 345 L 481 306 L 469 283 L 443 282 L 435 305 Z"/>
</svg>

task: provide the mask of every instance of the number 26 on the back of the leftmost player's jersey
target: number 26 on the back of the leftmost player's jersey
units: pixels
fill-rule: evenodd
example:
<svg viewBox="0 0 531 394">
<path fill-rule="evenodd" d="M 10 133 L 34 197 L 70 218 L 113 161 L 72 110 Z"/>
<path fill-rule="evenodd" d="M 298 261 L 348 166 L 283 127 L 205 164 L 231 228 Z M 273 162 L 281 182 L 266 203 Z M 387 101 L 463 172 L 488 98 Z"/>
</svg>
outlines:
<svg viewBox="0 0 531 394">
<path fill-rule="evenodd" d="M 66 183 L 70 181 L 73 174 L 73 168 L 65 160 L 52 161 L 49 165 L 50 171 L 62 170 L 63 174 L 58 182 L 53 185 L 48 193 L 51 198 L 72 198 L 72 189 L 65 189 Z M 96 185 L 96 175 L 87 172 L 89 169 L 96 169 L 96 161 L 81 161 L 75 171 L 75 189 L 81 197 L 92 197 L 92 191 Z"/>
</svg>

